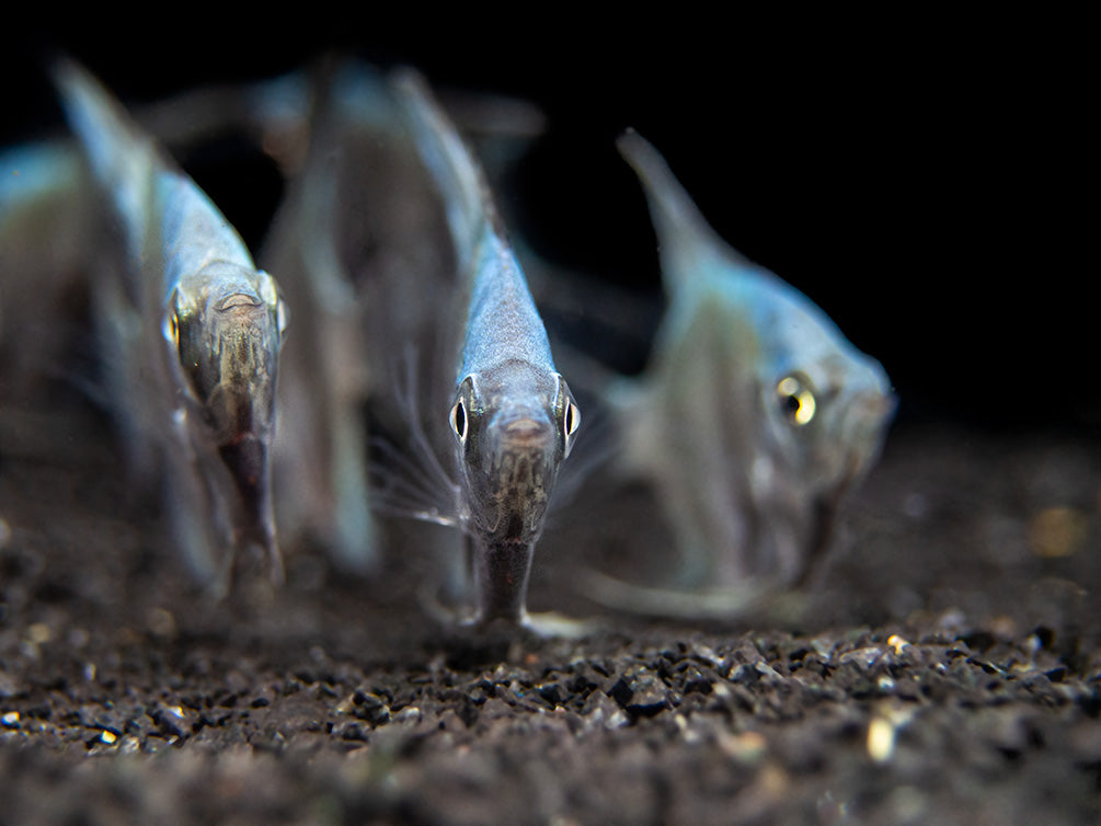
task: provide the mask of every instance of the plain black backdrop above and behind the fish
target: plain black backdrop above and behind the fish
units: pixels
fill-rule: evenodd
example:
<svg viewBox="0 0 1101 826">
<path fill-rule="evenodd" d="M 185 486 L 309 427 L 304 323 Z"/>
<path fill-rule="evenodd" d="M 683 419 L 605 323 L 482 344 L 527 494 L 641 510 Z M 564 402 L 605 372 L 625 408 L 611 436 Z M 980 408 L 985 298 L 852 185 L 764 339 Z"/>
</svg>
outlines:
<svg viewBox="0 0 1101 826">
<path fill-rule="evenodd" d="M 1078 254 L 1097 226 L 1081 20 L 698 18 L 598 32 L 451 25 L 424 10 L 415 28 L 310 18 L 227 31 L 188 13 L 11 26 L 2 142 L 62 128 L 43 70 L 58 50 L 130 104 L 272 76 L 330 47 L 411 63 L 543 107 L 549 130 L 514 197 L 521 229 L 559 263 L 658 289 L 641 189 L 613 145 L 634 127 L 720 235 L 883 362 L 902 424 L 1101 433 L 1098 268 Z M 270 171 L 189 171 L 254 244 L 277 197 Z"/>
</svg>

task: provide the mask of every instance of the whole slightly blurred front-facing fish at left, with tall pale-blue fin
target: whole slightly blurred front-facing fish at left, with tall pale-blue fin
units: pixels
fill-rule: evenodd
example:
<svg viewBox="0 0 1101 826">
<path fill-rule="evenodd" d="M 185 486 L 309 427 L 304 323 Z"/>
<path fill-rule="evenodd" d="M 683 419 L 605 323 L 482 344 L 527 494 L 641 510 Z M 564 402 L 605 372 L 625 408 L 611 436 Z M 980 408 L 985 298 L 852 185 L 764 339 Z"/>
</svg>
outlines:
<svg viewBox="0 0 1101 826">
<path fill-rule="evenodd" d="M 110 205 L 124 261 L 94 285 L 123 439 L 161 472 L 196 576 L 229 584 L 259 546 L 282 579 L 271 499 L 275 385 L 287 312 L 237 231 L 84 68 L 54 68 L 69 124 Z"/>
</svg>

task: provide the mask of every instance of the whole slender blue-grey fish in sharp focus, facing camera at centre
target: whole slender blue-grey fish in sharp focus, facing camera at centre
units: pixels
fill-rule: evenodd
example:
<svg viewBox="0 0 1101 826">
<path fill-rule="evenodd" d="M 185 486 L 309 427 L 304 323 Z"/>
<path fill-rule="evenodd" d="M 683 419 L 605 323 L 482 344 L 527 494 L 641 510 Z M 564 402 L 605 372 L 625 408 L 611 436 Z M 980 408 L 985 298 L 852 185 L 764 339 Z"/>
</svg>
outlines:
<svg viewBox="0 0 1101 826">
<path fill-rule="evenodd" d="M 555 369 L 543 320 L 481 167 L 419 76 L 395 88 L 444 199 L 466 326 L 447 422 L 460 524 L 473 544 L 476 621 L 524 623 L 535 543 L 580 411 Z"/>
</svg>

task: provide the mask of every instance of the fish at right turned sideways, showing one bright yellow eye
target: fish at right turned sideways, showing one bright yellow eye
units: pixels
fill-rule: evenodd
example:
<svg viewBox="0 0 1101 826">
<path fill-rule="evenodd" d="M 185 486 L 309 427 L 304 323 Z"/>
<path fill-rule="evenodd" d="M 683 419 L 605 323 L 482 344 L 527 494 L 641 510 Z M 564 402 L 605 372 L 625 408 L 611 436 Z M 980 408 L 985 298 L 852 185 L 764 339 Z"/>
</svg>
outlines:
<svg viewBox="0 0 1101 826">
<path fill-rule="evenodd" d="M 628 461 L 673 529 L 683 559 L 672 587 L 686 598 L 602 578 L 596 590 L 686 613 L 702 612 L 698 593 L 710 590 L 735 609 L 807 575 L 895 400 L 879 362 L 821 309 L 715 233 L 650 143 L 629 132 L 619 148 L 645 189 L 669 306 L 646 373 L 615 406 Z"/>
</svg>

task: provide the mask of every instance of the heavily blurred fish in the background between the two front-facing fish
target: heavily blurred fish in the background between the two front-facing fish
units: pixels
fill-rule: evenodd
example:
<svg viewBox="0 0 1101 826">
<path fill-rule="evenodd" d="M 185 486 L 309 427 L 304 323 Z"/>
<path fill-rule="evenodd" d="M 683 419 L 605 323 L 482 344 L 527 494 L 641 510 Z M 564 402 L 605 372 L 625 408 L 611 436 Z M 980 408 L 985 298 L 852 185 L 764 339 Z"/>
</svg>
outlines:
<svg viewBox="0 0 1101 826">
<path fill-rule="evenodd" d="M 370 400 L 375 420 L 399 426 L 394 354 L 432 335 L 453 262 L 385 77 L 352 62 L 316 74 L 308 150 L 262 254 L 301 327 L 283 354 L 275 493 L 285 534 L 312 534 L 364 572 L 379 556 L 364 411 Z"/>
</svg>

